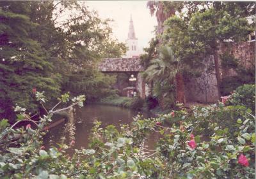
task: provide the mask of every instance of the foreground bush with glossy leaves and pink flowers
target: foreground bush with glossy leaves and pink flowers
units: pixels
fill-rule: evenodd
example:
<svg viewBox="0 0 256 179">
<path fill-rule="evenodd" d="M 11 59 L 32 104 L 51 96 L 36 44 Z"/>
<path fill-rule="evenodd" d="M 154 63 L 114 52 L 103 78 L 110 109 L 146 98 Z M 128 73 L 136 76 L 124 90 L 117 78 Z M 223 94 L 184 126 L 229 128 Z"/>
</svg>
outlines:
<svg viewBox="0 0 256 179">
<path fill-rule="evenodd" d="M 44 104 L 44 95 L 36 92 Z M 68 95 L 60 103 L 68 102 Z M 72 99 L 74 106 L 83 105 L 84 96 Z M 67 108 L 69 108 L 68 106 Z M 102 129 L 95 122 L 88 149 L 67 149 L 75 141 L 45 150 L 42 144 L 44 126 L 56 111 L 47 110 L 40 120 L 17 106 L 17 122 L 0 122 L 1 178 L 254 178 L 255 177 L 255 117 L 246 110 L 230 111 L 223 103 L 191 111 L 182 108 L 157 118 L 137 116 L 131 125 L 114 125 Z M 221 125 L 218 116 L 238 113 L 230 127 Z M 221 120 L 230 120 L 228 115 Z M 233 120 L 233 119 L 232 119 Z M 27 127 L 17 127 L 21 121 Z M 222 121 L 223 122 L 223 121 Z M 161 124 L 161 125 L 159 125 Z M 207 132 L 211 132 L 211 134 Z M 148 134 L 161 137 L 154 150 L 143 145 Z"/>
</svg>

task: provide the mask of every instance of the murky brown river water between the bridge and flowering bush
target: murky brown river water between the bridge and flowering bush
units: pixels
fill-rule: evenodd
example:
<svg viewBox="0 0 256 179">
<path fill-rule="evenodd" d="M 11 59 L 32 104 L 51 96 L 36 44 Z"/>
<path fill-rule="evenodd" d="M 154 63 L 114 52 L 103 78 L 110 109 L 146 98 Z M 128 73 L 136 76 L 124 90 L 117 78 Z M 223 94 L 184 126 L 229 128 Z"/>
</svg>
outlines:
<svg viewBox="0 0 256 179">
<path fill-rule="evenodd" d="M 74 148 L 87 148 L 93 122 L 100 120 L 102 122 L 100 127 L 102 128 L 110 124 L 116 125 L 119 128 L 120 124 L 130 124 L 132 117 L 138 115 L 138 113 L 145 118 L 152 116 L 150 113 L 99 104 L 90 104 L 83 108 L 76 108 L 74 113 L 68 113 L 69 120 L 67 122 L 63 122 L 47 132 L 44 136 L 44 145 L 47 148 L 50 146 L 57 147 L 56 143 L 64 142 L 68 144 L 70 141 L 75 140 Z M 154 148 L 157 138 L 154 134 L 148 136 L 146 145 L 149 148 Z"/>
</svg>

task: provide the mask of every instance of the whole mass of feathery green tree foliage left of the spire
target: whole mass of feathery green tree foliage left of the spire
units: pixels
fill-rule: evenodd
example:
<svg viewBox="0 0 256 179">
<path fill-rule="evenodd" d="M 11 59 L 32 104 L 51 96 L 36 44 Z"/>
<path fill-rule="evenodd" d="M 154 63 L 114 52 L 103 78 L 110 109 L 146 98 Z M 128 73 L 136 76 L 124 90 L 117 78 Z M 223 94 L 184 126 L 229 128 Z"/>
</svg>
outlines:
<svg viewBox="0 0 256 179">
<path fill-rule="evenodd" d="M 96 69 L 100 59 L 125 54 L 110 20 L 76 1 L 1 1 L 0 8 L 1 118 L 10 118 L 16 103 L 38 111 L 33 88 L 51 103 L 61 91 L 88 99 L 114 93 L 114 79 Z"/>
</svg>

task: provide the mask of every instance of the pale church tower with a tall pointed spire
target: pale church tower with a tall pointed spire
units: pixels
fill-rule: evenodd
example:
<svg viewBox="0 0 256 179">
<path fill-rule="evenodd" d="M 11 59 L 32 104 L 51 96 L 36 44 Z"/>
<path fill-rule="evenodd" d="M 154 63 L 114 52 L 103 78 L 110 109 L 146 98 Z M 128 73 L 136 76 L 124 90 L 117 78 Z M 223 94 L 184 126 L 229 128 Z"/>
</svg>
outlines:
<svg viewBox="0 0 256 179">
<path fill-rule="evenodd" d="M 135 36 L 132 16 L 129 24 L 128 38 L 125 42 L 126 42 L 126 46 L 128 47 L 125 57 L 129 58 L 133 56 L 138 56 L 139 55 L 138 38 L 136 38 Z"/>
</svg>

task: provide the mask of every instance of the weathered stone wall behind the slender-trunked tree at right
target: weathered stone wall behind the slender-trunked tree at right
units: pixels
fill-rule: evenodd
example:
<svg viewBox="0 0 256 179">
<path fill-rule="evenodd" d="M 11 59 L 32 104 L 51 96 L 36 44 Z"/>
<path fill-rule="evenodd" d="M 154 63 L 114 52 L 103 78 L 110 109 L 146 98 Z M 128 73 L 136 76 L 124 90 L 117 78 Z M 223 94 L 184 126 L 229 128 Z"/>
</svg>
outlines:
<svg viewBox="0 0 256 179">
<path fill-rule="evenodd" d="M 218 54 L 230 51 L 231 54 L 239 59 L 239 65 L 250 68 L 255 65 L 255 41 L 244 43 L 225 42 L 220 44 Z M 219 58 L 220 64 L 221 60 Z M 207 64 L 213 63 L 213 57 L 207 59 Z M 221 78 L 237 75 L 234 69 L 221 69 Z M 217 80 L 213 73 L 202 73 L 200 78 L 189 78 L 186 82 L 186 99 L 190 102 L 216 103 L 218 101 Z"/>
</svg>

